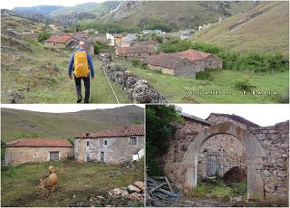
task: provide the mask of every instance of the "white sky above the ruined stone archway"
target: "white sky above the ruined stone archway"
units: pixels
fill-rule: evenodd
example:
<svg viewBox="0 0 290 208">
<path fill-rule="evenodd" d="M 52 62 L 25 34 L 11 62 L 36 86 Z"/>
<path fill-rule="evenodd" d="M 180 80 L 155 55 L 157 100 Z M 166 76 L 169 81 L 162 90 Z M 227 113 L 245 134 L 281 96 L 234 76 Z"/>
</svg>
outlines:
<svg viewBox="0 0 290 208">
<path fill-rule="evenodd" d="M 261 127 L 272 126 L 290 119 L 289 105 L 283 104 L 196 104 L 177 105 L 183 112 L 198 118 L 208 118 L 210 113 L 236 114 Z"/>
</svg>

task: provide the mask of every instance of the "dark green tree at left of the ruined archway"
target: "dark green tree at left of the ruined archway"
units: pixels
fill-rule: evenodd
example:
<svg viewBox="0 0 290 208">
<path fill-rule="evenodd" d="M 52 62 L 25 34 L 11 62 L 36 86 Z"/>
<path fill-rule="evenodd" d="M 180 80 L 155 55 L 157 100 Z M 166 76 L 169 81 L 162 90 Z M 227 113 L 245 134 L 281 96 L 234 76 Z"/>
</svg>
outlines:
<svg viewBox="0 0 290 208">
<path fill-rule="evenodd" d="M 169 139 L 173 137 L 176 123 L 182 123 L 180 109 L 172 105 L 146 106 L 146 164 L 149 175 L 161 175 L 160 156 L 167 153 Z"/>
</svg>

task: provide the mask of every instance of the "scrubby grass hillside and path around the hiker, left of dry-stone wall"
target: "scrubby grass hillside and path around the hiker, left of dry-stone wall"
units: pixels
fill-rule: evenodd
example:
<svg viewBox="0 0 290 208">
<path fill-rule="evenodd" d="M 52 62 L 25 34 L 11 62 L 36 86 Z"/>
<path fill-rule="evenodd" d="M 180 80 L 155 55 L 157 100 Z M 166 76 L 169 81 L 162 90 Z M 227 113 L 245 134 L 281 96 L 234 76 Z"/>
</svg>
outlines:
<svg viewBox="0 0 290 208">
<path fill-rule="evenodd" d="M 36 37 L 24 32 L 34 31 Z M 37 42 L 37 34 L 53 33 L 13 14 L 1 18 L 1 101 L 3 103 L 75 103 L 74 81 L 67 79 L 72 51 Z M 93 58 L 95 79 L 91 84 L 92 103 L 116 103 L 110 84 Z M 121 103 L 131 103 L 120 86 L 111 83 Z M 83 89 L 82 89 L 83 90 Z"/>
</svg>

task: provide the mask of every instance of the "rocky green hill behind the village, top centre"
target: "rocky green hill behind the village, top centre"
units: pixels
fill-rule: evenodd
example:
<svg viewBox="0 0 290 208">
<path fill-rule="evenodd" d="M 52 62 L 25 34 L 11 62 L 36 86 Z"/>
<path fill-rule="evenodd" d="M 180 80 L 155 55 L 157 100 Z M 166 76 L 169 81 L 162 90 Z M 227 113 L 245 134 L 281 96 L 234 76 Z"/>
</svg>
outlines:
<svg viewBox="0 0 290 208">
<path fill-rule="evenodd" d="M 254 2 L 124 1 L 100 22 L 118 23 L 127 28 L 146 28 L 155 22 L 168 24 L 172 29 L 196 28 L 200 24 L 216 23 L 219 17 L 225 18 L 255 5 Z"/>
</svg>

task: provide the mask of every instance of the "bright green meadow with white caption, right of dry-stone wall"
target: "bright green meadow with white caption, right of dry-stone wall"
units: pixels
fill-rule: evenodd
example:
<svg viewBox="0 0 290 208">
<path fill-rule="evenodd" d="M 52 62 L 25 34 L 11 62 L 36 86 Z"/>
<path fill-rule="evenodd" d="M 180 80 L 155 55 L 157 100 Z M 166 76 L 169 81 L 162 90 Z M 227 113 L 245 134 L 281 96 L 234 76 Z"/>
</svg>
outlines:
<svg viewBox="0 0 290 208">
<path fill-rule="evenodd" d="M 133 67 L 129 61 L 120 59 L 116 61 L 127 66 L 140 78 L 148 80 L 156 90 L 173 103 L 277 103 L 289 87 L 289 71 L 252 74 L 251 71 L 219 70 L 210 72 L 213 80 L 193 80 Z M 245 78 L 256 86 L 255 90 L 272 92 L 275 90 L 277 95 L 253 95 L 249 92 L 247 95 L 241 94 L 235 88 L 235 83 Z M 208 91 L 212 90 L 218 90 L 219 94 L 210 95 Z M 227 93 L 229 90 L 232 90 L 231 95 Z"/>
</svg>

